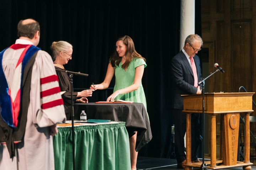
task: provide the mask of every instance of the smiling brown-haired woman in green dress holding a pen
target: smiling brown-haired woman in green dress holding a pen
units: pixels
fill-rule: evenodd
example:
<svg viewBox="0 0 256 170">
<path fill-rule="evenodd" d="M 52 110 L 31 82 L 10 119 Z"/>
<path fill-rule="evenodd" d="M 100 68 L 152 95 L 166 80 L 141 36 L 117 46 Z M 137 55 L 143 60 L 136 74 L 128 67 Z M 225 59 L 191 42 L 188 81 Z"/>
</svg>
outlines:
<svg viewBox="0 0 256 170">
<path fill-rule="evenodd" d="M 146 108 L 146 98 L 142 87 L 142 76 L 146 67 L 143 58 L 134 47 L 133 40 L 125 35 L 116 42 L 116 51 L 110 57 L 105 80 L 101 84 L 91 85 L 90 89 L 107 89 L 115 74 L 114 92 L 107 101 L 125 100 L 143 103 Z M 129 138 L 131 168 L 136 170 L 138 152 L 135 151 L 137 131 Z"/>
</svg>

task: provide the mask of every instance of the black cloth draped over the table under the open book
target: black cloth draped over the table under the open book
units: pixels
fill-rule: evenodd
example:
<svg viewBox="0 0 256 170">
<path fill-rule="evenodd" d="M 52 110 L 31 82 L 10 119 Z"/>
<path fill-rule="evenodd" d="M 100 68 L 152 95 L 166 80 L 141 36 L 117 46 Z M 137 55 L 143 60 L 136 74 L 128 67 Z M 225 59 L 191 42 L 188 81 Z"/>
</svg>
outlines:
<svg viewBox="0 0 256 170">
<path fill-rule="evenodd" d="M 85 111 L 88 119 L 106 119 L 126 122 L 129 137 L 137 131 L 135 150 L 139 151 L 152 138 L 146 109 L 142 103 L 76 103 L 74 119 L 80 120 L 80 114 Z"/>
</svg>

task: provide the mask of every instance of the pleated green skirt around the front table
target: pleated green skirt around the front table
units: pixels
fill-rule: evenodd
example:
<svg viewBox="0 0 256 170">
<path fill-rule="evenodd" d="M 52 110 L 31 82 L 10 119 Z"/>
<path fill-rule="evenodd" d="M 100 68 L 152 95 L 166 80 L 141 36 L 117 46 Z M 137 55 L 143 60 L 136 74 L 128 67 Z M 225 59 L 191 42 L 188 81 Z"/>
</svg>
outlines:
<svg viewBox="0 0 256 170">
<path fill-rule="evenodd" d="M 72 170 L 71 127 L 58 128 L 53 138 L 55 170 Z M 125 122 L 75 126 L 76 170 L 130 170 Z"/>
</svg>

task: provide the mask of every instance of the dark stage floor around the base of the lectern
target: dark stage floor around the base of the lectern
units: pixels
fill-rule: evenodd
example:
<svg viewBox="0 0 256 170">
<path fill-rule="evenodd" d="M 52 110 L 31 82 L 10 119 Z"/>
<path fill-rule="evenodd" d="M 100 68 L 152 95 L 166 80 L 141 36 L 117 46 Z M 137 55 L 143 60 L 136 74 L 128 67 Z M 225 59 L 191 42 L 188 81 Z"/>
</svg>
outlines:
<svg viewBox="0 0 256 170">
<path fill-rule="evenodd" d="M 209 159 L 207 159 L 209 160 Z M 256 170 L 255 164 L 251 166 L 251 170 Z M 171 170 L 177 169 L 176 159 L 163 159 L 163 158 L 149 158 L 149 157 L 138 157 L 137 159 L 137 170 Z M 193 168 L 197 170 L 198 168 Z M 242 170 L 242 166 L 218 170 Z"/>
</svg>

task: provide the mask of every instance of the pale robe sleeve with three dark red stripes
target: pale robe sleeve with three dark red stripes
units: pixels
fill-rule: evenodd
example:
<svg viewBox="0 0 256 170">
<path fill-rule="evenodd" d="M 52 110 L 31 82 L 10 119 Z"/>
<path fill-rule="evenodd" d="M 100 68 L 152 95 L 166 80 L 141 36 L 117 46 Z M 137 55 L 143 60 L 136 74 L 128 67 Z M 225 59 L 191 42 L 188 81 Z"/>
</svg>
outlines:
<svg viewBox="0 0 256 170">
<path fill-rule="evenodd" d="M 65 121 L 66 115 L 60 95 L 58 76 L 52 58 L 47 52 L 38 51 L 31 79 L 33 80 L 31 81 L 31 90 L 34 88 L 33 91 L 36 93 L 32 96 L 36 97 L 34 100 L 39 100 L 35 104 L 36 108 L 34 109 L 37 110 L 37 114 L 34 115 L 33 122 L 39 127 L 46 127 Z"/>
</svg>

